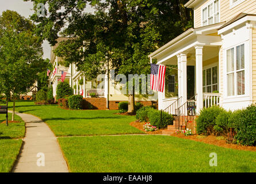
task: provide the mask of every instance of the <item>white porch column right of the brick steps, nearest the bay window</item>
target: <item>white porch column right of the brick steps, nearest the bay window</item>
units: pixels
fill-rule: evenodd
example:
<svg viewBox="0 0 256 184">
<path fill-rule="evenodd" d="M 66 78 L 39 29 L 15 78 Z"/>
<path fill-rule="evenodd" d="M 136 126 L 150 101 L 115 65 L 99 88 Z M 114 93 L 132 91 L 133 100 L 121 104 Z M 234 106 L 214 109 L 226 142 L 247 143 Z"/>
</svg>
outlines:
<svg viewBox="0 0 256 184">
<path fill-rule="evenodd" d="M 202 46 L 196 46 L 196 94 L 197 94 L 197 114 L 203 108 L 202 94 Z"/>
</svg>

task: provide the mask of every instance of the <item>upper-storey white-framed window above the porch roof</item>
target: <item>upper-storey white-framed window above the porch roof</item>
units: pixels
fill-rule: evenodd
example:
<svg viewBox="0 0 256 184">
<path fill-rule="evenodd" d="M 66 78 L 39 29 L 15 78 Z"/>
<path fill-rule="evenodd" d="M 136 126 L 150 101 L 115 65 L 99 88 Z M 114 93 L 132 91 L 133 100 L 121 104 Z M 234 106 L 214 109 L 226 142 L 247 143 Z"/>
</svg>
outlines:
<svg viewBox="0 0 256 184">
<path fill-rule="evenodd" d="M 202 9 L 202 26 L 216 24 L 220 21 L 219 0 L 212 1 Z"/>
</svg>

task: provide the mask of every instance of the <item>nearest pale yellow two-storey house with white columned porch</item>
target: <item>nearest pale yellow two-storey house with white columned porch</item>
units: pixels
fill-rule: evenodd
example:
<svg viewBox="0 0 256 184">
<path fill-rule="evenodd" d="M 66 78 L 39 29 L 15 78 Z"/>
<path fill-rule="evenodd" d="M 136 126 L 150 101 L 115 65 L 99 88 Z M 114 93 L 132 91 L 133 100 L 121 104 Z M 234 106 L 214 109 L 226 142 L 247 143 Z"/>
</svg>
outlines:
<svg viewBox="0 0 256 184">
<path fill-rule="evenodd" d="M 178 66 L 178 95 L 158 93 L 159 109 L 187 116 L 212 105 L 236 110 L 255 104 L 256 1 L 190 0 L 185 6 L 194 10 L 194 28 L 148 56 L 151 63 Z M 194 72 L 193 84 L 188 72 Z"/>
</svg>

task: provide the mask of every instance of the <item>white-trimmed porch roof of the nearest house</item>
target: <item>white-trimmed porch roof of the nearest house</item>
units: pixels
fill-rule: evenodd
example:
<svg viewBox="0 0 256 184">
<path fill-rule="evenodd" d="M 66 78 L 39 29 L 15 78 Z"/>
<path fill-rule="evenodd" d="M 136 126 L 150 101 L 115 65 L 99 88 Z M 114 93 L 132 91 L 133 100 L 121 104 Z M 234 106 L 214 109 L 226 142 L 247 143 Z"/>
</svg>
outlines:
<svg viewBox="0 0 256 184">
<path fill-rule="evenodd" d="M 162 63 L 179 53 L 188 52 L 188 49 L 196 45 L 211 47 L 222 45 L 217 29 L 225 23 L 220 22 L 200 28 L 190 28 L 169 43 L 163 45 L 163 47 L 152 52 L 148 57 L 158 60 L 158 63 Z"/>
</svg>

